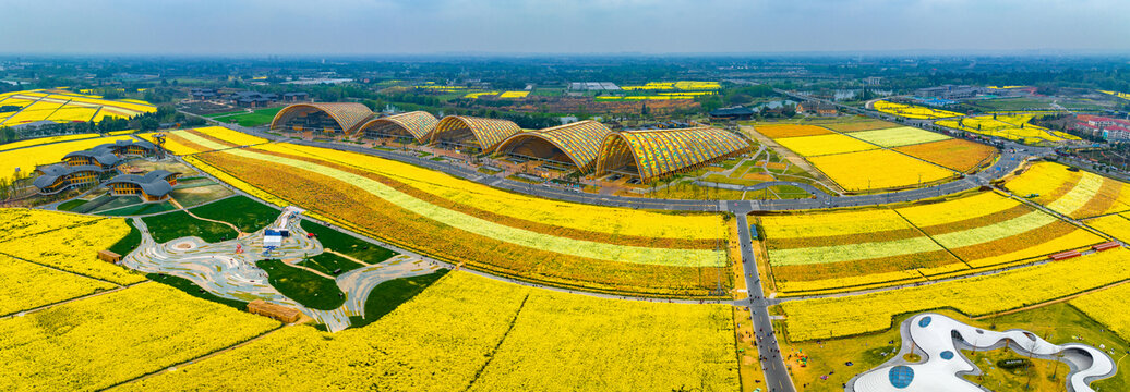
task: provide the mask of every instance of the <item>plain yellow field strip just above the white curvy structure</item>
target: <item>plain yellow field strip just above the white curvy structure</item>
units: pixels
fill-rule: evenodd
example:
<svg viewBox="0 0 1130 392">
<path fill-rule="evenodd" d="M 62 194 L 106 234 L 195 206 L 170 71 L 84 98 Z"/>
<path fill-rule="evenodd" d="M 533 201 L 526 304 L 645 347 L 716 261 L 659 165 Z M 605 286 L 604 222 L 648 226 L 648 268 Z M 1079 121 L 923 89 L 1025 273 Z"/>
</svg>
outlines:
<svg viewBox="0 0 1130 392">
<path fill-rule="evenodd" d="M 892 326 L 898 314 L 953 307 L 981 316 L 1130 279 L 1130 251 L 1099 252 L 989 276 L 863 295 L 785 302 L 791 341 L 850 337 Z"/>
</svg>

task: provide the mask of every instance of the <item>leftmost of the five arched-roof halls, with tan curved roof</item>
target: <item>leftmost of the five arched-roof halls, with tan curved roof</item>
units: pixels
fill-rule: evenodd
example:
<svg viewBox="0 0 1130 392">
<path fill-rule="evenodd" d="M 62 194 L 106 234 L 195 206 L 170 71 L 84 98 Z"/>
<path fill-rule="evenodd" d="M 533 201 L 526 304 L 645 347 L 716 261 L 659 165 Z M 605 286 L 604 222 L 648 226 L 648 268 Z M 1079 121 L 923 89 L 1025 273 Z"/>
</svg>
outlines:
<svg viewBox="0 0 1130 392">
<path fill-rule="evenodd" d="M 357 103 L 294 104 L 275 114 L 271 129 L 351 133 L 372 116 L 368 106 Z"/>
</svg>

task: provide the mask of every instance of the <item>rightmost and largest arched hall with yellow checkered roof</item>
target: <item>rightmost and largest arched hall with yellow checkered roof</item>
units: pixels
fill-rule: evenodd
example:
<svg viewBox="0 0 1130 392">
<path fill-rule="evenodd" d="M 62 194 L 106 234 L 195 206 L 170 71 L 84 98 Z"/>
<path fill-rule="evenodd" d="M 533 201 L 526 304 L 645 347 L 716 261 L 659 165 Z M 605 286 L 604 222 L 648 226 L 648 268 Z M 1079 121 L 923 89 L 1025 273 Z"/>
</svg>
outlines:
<svg viewBox="0 0 1130 392">
<path fill-rule="evenodd" d="M 614 132 L 600 145 L 596 174 L 638 175 L 647 182 L 747 150 L 747 139 L 718 128 Z"/>
</svg>

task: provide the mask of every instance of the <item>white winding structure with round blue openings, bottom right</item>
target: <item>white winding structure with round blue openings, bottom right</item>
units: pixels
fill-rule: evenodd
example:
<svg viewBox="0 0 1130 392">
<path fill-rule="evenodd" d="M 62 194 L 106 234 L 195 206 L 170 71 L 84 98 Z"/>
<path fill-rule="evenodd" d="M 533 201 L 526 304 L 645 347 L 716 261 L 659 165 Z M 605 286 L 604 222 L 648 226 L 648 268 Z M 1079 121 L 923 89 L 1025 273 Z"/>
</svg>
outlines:
<svg viewBox="0 0 1130 392">
<path fill-rule="evenodd" d="M 1067 390 L 1094 392 L 1088 385 L 1114 375 L 1114 361 L 1094 347 L 1079 343 L 1052 345 L 1024 330 L 986 331 L 954 319 L 923 313 L 902 324 L 903 348 L 881 366 L 852 378 L 846 391 L 858 392 L 983 392 L 985 389 L 964 378 L 980 369 L 962 355 L 962 349 L 996 349 L 1006 345 L 1017 354 L 1034 358 L 1060 360 L 1070 366 Z M 907 363 L 909 352 L 922 357 Z"/>
</svg>

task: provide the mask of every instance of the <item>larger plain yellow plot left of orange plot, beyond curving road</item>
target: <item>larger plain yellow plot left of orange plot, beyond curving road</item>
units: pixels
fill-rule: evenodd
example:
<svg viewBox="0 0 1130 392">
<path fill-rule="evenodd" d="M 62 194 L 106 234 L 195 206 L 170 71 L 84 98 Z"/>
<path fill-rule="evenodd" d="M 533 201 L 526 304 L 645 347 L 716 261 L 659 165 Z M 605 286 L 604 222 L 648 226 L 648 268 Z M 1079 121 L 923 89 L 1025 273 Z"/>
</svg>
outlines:
<svg viewBox="0 0 1130 392">
<path fill-rule="evenodd" d="M 870 150 L 807 158 L 847 191 L 897 189 L 954 177 L 937 165 L 892 150 Z"/>
</svg>

